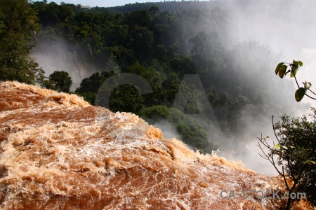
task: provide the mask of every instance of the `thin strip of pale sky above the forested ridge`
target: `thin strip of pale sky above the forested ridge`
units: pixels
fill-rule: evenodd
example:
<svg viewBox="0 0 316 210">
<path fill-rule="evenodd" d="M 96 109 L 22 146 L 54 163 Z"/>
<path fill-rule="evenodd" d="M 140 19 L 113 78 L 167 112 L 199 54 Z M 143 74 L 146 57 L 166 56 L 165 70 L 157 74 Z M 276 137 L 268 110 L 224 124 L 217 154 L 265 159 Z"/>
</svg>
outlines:
<svg viewBox="0 0 316 210">
<path fill-rule="evenodd" d="M 39 0 L 38 0 L 39 1 Z M 160 0 L 164 1 L 164 0 Z M 64 1 L 53 1 L 57 4 L 60 4 L 60 2 L 65 2 L 65 3 L 72 3 L 74 5 L 81 4 L 82 6 L 99 6 L 99 7 L 111 7 L 111 6 L 124 6 L 125 4 L 129 3 L 145 3 L 145 2 L 160 2 L 157 0 L 64 0 Z M 51 1 L 48 1 L 48 3 Z"/>
</svg>

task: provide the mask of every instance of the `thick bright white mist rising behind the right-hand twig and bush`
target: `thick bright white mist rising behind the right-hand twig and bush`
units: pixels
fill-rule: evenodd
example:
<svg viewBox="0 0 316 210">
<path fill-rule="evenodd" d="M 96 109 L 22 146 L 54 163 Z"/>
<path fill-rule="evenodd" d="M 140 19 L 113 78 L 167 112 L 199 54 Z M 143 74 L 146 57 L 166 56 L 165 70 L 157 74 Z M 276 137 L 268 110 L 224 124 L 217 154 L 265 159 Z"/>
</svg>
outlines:
<svg viewBox="0 0 316 210">
<path fill-rule="evenodd" d="M 270 137 L 270 142 L 275 140 L 272 130 L 271 116 L 275 116 L 275 122 L 279 120 L 282 113 L 298 117 L 310 113 L 310 106 L 315 107 L 315 100 L 304 97 L 302 102 L 297 103 L 294 92 L 297 89 L 294 78 L 283 78 L 275 76 L 274 69 L 278 62 L 291 62 L 293 59 L 303 61 L 303 66 L 298 71 L 298 83 L 307 80 L 316 86 L 316 2 L 315 1 L 222 1 L 223 6 L 219 8 L 226 10 L 230 16 L 230 24 L 221 29 L 222 44 L 226 48 L 244 41 L 256 41 L 267 46 L 275 52 L 275 59 L 269 60 L 256 55 L 243 52 L 247 59 L 256 59 L 258 64 L 270 63 L 270 69 L 253 69 L 261 71 L 261 75 L 254 72 L 241 72 L 241 75 L 253 74 L 244 83 L 255 81 L 257 85 L 266 90 L 265 101 L 275 106 L 281 106 L 262 115 L 251 113 L 248 108 L 242 112 L 239 123 L 244 125 L 235 137 L 222 137 L 216 141 L 220 148 L 220 154 L 232 160 L 241 160 L 246 167 L 256 172 L 276 176 L 277 172 L 258 153 L 256 137 Z M 211 15 L 210 15 L 211 16 Z M 213 31 L 211 19 L 197 25 L 198 30 Z M 242 56 L 241 56 L 242 57 Z M 238 62 L 238 61 L 237 61 Z M 243 68 L 239 68 L 243 71 Z M 269 83 L 263 83 L 262 77 L 270 78 Z M 265 80 L 267 81 L 267 80 Z M 249 90 L 251 91 L 251 90 Z M 255 108 L 256 109 L 256 108 Z M 211 135 L 211 134 L 210 134 Z M 238 139 L 236 138 L 238 137 Z"/>
</svg>

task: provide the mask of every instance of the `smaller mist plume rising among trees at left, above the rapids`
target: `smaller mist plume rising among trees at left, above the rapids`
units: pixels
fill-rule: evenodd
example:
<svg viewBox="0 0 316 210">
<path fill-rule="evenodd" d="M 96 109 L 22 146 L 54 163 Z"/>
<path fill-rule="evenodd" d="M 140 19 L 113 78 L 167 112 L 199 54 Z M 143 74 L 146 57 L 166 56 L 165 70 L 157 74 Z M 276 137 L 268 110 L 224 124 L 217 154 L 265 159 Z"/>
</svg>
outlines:
<svg viewBox="0 0 316 210">
<path fill-rule="evenodd" d="M 44 29 L 41 34 L 49 34 L 52 31 Z M 65 38 L 49 38 L 40 35 L 37 39 L 37 47 L 34 48 L 31 56 L 36 59 L 49 76 L 53 71 L 66 71 L 72 78 L 70 91 L 74 92 L 79 87 L 81 80 L 91 76 L 96 71 L 107 70 L 109 58 L 103 57 L 103 61 L 94 58 L 97 62 L 91 62 L 91 55 L 86 46 L 78 46 L 70 43 Z M 93 61 L 93 59 L 92 59 Z"/>
</svg>

